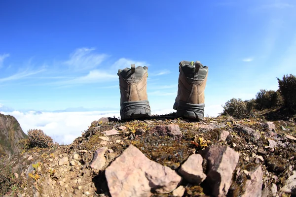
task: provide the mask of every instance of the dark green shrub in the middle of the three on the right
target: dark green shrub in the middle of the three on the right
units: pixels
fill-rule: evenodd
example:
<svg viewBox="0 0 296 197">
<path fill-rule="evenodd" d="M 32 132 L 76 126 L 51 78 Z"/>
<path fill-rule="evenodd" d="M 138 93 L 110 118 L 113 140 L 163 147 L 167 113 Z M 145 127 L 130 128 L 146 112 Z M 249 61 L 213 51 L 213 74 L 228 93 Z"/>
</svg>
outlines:
<svg viewBox="0 0 296 197">
<path fill-rule="evenodd" d="M 256 108 L 257 109 L 269 109 L 279 106 L 282 103 L 282 97 L 279 91 L 273 90 L 260 90 L 256 95 Z"/>
</svg>

